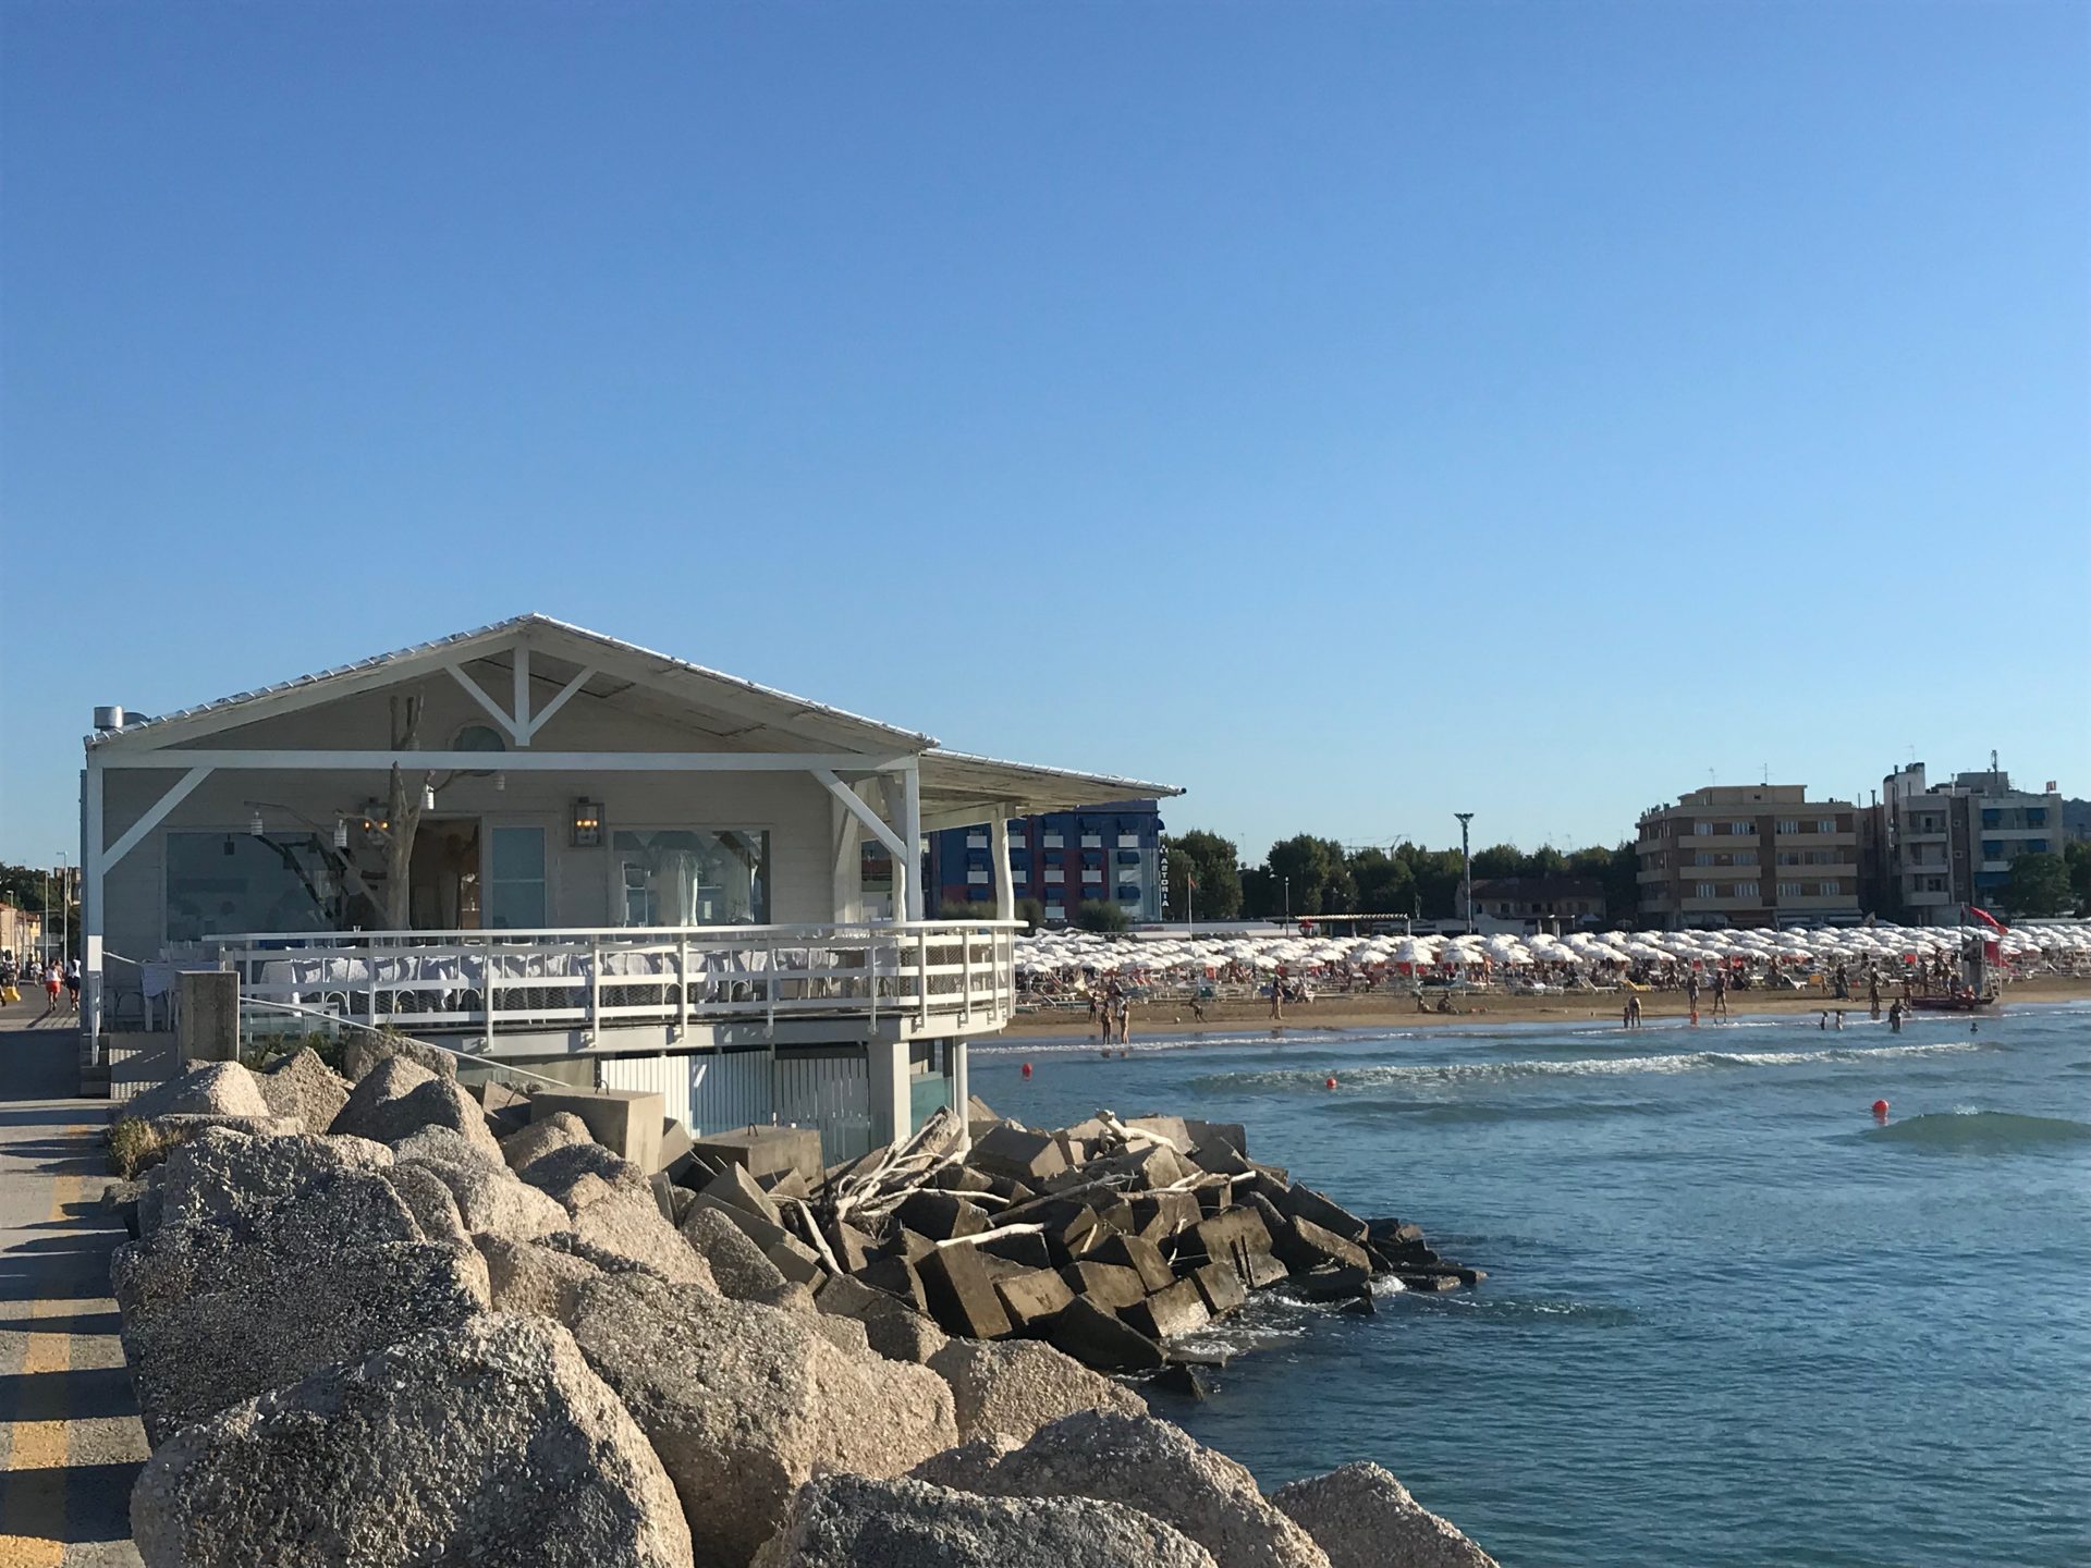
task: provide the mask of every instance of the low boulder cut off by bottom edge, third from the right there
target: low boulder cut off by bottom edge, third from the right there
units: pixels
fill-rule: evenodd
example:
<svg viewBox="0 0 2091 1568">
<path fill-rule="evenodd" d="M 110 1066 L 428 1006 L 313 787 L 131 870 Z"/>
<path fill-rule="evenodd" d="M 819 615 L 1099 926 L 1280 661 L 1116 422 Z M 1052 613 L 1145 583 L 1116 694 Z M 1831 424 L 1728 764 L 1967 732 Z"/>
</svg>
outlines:
<svg viewBox="0 0 2091 1568">
<path fill-rule="evenodd" d="M 920 1480 L 820 1476 L 753 1568 L 1213 1568 L 1161 1520 L 1085 1497 L 970 1497 Z"/>
</svg>

